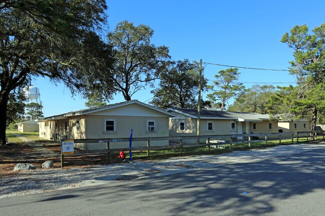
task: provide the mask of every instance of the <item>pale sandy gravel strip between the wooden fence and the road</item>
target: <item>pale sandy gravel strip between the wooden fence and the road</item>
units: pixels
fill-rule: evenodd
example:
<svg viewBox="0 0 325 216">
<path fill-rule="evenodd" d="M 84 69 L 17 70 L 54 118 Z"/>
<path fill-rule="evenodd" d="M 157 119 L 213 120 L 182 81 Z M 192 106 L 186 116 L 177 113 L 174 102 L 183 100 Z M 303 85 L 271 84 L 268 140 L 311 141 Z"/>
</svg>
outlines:
<svg viewBox="0 0 325 216">
<path fill-rule="evenodd" d="M 14 175 L 8 175 L 0 179 L 0 199 L 105 184 L 110 181 L 164 176 L 237 163 L 250 163 L 273 157 L 299 154 L 324 147 L 325 143 L 297 144 L 236 151 L 222 155 L 174 157 L 164 160 L 140 161 L 106 166 L 12 171 Z"/>
</svg>

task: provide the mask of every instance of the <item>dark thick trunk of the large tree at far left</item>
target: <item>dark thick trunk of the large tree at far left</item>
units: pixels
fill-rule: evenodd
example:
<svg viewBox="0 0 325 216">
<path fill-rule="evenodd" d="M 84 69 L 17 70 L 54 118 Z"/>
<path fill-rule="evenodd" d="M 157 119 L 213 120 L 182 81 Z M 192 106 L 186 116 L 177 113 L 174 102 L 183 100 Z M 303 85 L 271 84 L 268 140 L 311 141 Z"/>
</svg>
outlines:
<svg viewBox="0 0 325 216">
<path fill-rule="evenodd" d="M 0 145 L 5 145 L 5 126 L 7 120 L 7 103 L 9 93 L 2 91 L 0 94 Z"/>
</svg>

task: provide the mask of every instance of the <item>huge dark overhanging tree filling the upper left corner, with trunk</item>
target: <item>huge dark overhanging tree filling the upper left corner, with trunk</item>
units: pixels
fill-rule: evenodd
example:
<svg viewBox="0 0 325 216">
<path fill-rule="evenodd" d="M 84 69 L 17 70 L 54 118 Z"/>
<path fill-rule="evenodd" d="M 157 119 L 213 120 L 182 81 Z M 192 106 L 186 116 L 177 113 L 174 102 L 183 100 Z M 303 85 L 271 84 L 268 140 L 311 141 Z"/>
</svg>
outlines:
<svg viewBox="0 0 325 216">
<path fill-rule="evenodd" d="M 109 46 L 95 33 L 105 0 L 4 0 L 0 3 L 0 142 L 9 94 L 35 76 L 86 91 L 87 77 L 105 65 Z M 105 56 L 103 58 L 102 56 Z M 110 88 L 106 89 L 107 91 Z"/>
</svg>

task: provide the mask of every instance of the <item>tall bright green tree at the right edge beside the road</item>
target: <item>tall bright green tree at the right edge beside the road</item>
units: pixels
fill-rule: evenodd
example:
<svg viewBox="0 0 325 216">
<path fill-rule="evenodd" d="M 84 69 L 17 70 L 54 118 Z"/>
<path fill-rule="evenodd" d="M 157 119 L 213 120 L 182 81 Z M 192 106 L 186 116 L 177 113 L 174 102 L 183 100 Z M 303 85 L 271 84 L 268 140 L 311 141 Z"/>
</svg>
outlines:
<svg viewBox="0 0 325 216">
<path fill-rule="evenodd" d="M 293 49 L 294 60 L 290 72 L 296 75 L 298 87 L 287 100 L 293 100 L 289 111 L 293 115 L 312 114 L 311 130 L 314 130 L 317 112 L 325 110 L 323 80 L 325 78 L 325 23 L 308 33 L 306 25 L 296 25 L 281 42 Z"/>
</svg>

